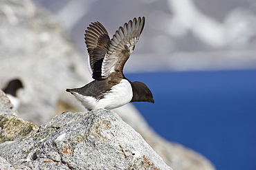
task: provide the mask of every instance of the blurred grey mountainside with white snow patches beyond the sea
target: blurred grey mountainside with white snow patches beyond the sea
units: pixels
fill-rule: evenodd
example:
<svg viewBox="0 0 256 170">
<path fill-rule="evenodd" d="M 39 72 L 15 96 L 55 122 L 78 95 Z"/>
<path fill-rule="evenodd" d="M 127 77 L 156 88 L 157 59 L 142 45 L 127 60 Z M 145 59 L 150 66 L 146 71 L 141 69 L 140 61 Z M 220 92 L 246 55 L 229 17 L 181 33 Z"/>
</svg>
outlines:
<svg viewBox="0 0 256 170">
<path fill-rule="evenodd" d="M 86 54 L 83 34 L 100 21 L 113 35 L 134 17 L 146 26 L 126 73 L 254 69 L 256 2 L 251 1 L 51 1 L 37 0 L 56 14 Z M 147 64 L 145 63 L 147 60 Z"/>
</svg>

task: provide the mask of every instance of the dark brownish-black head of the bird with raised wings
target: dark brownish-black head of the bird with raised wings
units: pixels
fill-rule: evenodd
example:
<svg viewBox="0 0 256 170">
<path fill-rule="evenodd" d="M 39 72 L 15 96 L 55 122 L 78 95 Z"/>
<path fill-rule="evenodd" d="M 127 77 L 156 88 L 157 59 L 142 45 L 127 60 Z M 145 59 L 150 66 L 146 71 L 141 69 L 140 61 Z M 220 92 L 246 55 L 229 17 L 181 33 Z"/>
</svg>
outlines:
<svg viewBox="0 0 256 170">
<path fill-rule="evenodd" d="M 153 94 L 150 91 L 149 87 L 147 87 L 147 85 L 139 81 L 134 81 L 131 83 L 131 87 L 133 91 L 133 97 L 131 99 L 131 102 L 155 103 Z"/>
</svg>

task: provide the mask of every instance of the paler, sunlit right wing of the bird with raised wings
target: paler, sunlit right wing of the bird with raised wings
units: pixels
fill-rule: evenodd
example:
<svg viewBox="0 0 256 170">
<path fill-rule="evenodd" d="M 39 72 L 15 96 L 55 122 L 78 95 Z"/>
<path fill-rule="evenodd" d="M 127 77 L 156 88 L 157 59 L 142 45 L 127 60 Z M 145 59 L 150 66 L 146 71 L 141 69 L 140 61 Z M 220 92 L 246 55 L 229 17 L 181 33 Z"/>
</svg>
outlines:
<svg viewBox="0 0 256 170">
<path fill-rule="evenodd" d="M 104 57 L 101 67 L 102 78 L 107 78 L 112 72 L 122 74 L 123 67 L 129 59 L 131 52 L 143 31 L 145 17 L 134 18 L 133 21 L 125 23 L 113 35 L 109 44 L 107 55 Z"/>
</svg>

